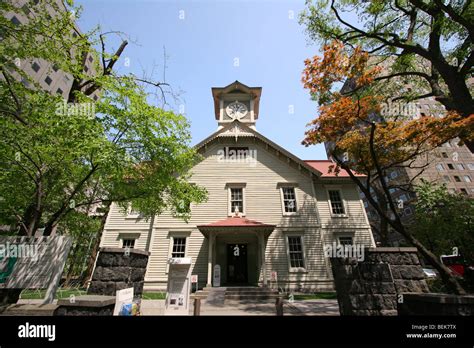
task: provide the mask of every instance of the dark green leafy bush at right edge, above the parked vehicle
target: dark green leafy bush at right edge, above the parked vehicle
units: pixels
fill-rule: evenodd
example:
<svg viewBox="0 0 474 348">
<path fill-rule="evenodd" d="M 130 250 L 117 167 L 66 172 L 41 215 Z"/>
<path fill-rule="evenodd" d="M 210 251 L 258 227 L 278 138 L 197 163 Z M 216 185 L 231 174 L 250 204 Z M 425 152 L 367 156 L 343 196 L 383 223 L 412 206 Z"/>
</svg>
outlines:
<svg viewBox="0 0 474 348">
<path fill-rule="evenodd" d="M 453 248 L 474 264 L 474 199 L 450 194 L 446 186 L 422 182 L 416 189 L 415 222 L 411 230 L 438 257 Z"/>
</svg>

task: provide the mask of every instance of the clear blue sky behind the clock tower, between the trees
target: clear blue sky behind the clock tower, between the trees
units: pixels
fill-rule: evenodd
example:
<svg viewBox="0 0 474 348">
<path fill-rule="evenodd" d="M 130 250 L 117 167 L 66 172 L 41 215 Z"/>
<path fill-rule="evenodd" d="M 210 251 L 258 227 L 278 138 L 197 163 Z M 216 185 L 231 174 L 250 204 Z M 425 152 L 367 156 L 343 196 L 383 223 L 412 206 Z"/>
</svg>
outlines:
<svg viewBox="0 0 474 348">
<path fill-rule="evenodd" d="M 317 107 L 301 84 L 303 61 L 319 53 L 298 24 L 303 0 L 77 0 L 76 4 L 83 7 L 81 30 L 100 25 L 102 32 L 124 32 L 133 41 L 119 61 L 124 73 L 154 72 L 156 80 L 163 80 L 166 48 L 166 82 L 182 99 L 173 107 L 178 111 L 184 105 L 193 144 L 217 129 L 211 87 L 239 80 L 263 88 L 260 133 L 302 159 L 326 159 L 323 145 L 301 145 Z"/>
</svg>

